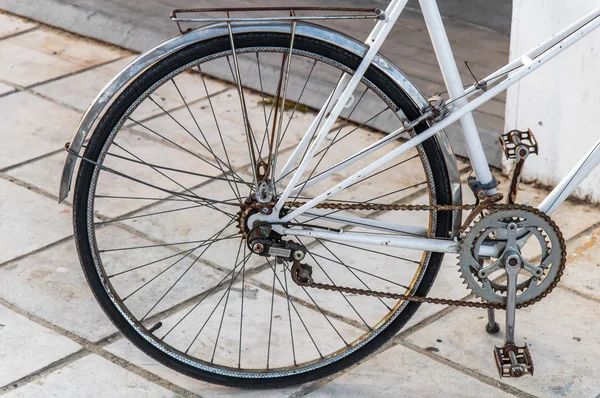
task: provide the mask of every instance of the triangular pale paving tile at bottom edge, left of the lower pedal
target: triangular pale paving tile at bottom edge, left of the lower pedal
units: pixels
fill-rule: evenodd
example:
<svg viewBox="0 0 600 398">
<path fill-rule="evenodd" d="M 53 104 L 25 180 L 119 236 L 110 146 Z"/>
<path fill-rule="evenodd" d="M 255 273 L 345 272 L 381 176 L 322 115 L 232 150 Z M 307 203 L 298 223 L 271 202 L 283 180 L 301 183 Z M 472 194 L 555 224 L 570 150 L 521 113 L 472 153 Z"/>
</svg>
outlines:
<svg viewBox="0 0 600 398">
<path fill-rule="evenodd" d="M 309 397 L 510 397 L 402 346 L 392 347 Z"/>
</svg>

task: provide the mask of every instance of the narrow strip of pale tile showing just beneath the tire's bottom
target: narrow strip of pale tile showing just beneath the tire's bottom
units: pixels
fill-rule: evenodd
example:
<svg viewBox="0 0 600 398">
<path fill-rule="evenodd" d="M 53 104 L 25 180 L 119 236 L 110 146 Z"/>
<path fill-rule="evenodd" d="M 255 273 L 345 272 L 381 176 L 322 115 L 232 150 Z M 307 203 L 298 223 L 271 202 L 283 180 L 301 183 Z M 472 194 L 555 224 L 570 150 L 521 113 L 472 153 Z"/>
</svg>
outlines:
<svg viewBox="0 0 600 398">
<path fill-rule="evenodd" d="M 236 388 L 227 388 L 215 384 L 205 383 L 191 377 L 184 376 L 166 366 L 156 362 L 126 339 L 121 339 L 108 347 L 105 350 L 121 357 L 137 366 L 146 369 L 171 383 L 185 388 L 188 391 L 194 392 L 202 397 L 249 397 L 249 398 L 271 398 L 271 397 L 289 397 L 294 392 L 298 391 L 301 386 L 280 388 L 276 390 L 243 390 Z"/>
</svg>

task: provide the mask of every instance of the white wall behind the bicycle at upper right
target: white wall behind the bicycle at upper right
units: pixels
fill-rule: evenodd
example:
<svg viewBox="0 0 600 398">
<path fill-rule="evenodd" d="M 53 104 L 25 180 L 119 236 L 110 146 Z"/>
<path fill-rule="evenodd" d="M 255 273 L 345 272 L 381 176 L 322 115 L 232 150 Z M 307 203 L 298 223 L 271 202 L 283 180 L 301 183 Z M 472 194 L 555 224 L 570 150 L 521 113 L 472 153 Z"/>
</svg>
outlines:
<svg viewBox="0 0 600 398">
<path fill-rule="evenodd" d="M 598 6 L 600 0 L 514 0 L 511 60 Z M 507 131 L 530 128 L 539 142 L 525 180 L 554 186 L 600 140 L 600 29 L 511 87 L 506 105 Z M 600 167 L 575 195 L 600 202 Z"/>
</svg>

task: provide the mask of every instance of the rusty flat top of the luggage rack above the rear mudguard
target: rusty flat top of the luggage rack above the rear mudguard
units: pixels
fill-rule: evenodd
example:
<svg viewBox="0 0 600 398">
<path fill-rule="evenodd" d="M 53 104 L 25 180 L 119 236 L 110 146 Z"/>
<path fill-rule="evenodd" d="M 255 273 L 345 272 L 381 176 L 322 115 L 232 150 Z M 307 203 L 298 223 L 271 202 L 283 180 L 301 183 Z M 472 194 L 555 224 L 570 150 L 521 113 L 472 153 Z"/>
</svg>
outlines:
<svg viewBox="0 0 600 398">
<path fill-rule="evenodd" d="M 232 17 L 232 13 L 265 13 L 282 12 L 287 15 L 279 16 L 239 16 Z M 297 15 L 297 11 L 331 13 L 330 15 Z M 224 17 L 203 16 L 190 14 L 211 14 L 224 13 Z M 344 13 L 336 15 L 335 13 Z M 187 15 L 182 15 L 187 14 Z M 181 22 L 195 23 L 214 23 L 214 22 L 256 22 L 256 21 L 315 21 L 315 20 L 333 20 L 333 19 L 372 19 L 384 20 L 385 13 L 381 8 L 355 8 L 355 7 L 225 7 L 225 8 L 182 8 L 171 12 L 171 20 L 177 23 L 181 33 L 186 33 L 192 28 L 183 29 Z"/>
</svg>

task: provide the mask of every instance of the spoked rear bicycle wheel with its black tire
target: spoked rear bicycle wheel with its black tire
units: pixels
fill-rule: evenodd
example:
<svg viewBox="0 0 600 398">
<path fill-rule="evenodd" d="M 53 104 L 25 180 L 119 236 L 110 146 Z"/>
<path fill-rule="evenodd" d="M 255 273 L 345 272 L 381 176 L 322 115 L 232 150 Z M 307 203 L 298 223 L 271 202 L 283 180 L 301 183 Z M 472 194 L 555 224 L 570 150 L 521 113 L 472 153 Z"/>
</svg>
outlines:
<svg viewBox="0 0 600 398">
<path fill-rule="evenodd" d="M 211 383 L 282 387 L 333 374 L 393 337 L 418 308 L 298 286 L 289 263 L 247 247 L 245 220 L 255 210 L 243 203 L 255 200 L 252 153 L 258 154 L 257 164 L 263 161 L 259 168 L 270 162 L 268 171 L 277 176 L 316 117 L 304 104 L 321 107 L 340 75 L 360 63 L 340 48 L 301 36 L 289 60 L 289 46 L 286 34 L 240 34 L 235 57 L 229 37 L 222 37 L 158 62 L 100 121 L 77 177 L 77 247 L 102 308 L 146 354 Z M 225 70 L 236 81 L 234 61 L 240 85 L 208 77 Z M 280 71 L 288 65 L 285 84 Z M 384 137 L 380 129 L 418 115 L 400 87 L 370 68 L 300 181 Z M 314 198 L 382 153 L 305 186 L 293 199 Z M 276 195 L 290 176 L 277 181 Z M 331 202 L 450 204 L 442 153 L 428 140 Z M 343 224 L 334 217 L 342 214 L 414 225 L 429 237 L 449 236 L 451 225 L 449 212 L 339 210 L 297 223 L 390 233 L 381 226 Z M 425 295 L 443 257 L 284 239 L 306 248 L 303 262 L 313 268 L 315 280 L 377 291 Z"/>
</svg>

